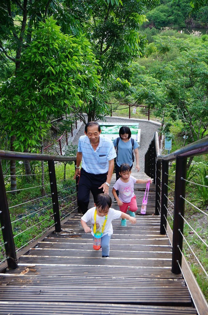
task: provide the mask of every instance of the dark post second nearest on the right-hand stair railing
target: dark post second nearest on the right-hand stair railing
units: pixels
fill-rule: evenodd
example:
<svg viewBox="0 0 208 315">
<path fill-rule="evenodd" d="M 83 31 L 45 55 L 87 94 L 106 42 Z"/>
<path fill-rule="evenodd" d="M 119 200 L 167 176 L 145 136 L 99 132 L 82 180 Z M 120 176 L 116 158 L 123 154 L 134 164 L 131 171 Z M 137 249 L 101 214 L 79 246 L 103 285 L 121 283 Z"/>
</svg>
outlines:
<svg viewBox="0 0 208 315">
<path fill-rule="evenodd" d="M 167 229 L 168 164 L 168 161 L 162 161 L 160 234 L 163 235 L 166 234 Z"/>
</svg>

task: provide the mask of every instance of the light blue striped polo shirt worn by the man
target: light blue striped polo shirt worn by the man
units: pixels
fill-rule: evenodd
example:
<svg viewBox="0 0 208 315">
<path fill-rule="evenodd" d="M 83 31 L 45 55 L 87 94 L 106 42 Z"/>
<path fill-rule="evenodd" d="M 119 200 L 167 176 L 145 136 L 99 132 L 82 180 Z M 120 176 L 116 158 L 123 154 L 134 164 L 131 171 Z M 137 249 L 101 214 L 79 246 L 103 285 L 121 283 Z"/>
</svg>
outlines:
<svg viewBox="0 0 208 315">
<path fill-rule="evenodd" d="M 108 172 L 109 161 L 116 157 L 113 142 L 99 135 L 99 145 L 94 151 L 88 136 L 79 138 L 77 152 L 82 152 L 82 168 L 91 174 L 104 174 Z"/>
</svg>

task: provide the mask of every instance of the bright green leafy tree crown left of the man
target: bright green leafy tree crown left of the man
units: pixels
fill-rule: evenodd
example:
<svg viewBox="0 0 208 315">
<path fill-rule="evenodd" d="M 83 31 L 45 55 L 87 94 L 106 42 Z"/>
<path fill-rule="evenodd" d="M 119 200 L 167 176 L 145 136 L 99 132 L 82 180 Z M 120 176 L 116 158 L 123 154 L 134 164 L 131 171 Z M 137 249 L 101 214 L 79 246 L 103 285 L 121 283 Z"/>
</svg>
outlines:
<svg viewBox="0 0 208 315">
<path fill-rule="evenodd" d="M 53 18 L 40 25 L 22 55 L 16 76 L 1 86 L 1 120 L 15 149 L 34 147 L 59 116 L 99 91 L 98 66 L 83 36 L 64 35 Z"/>
</svg>

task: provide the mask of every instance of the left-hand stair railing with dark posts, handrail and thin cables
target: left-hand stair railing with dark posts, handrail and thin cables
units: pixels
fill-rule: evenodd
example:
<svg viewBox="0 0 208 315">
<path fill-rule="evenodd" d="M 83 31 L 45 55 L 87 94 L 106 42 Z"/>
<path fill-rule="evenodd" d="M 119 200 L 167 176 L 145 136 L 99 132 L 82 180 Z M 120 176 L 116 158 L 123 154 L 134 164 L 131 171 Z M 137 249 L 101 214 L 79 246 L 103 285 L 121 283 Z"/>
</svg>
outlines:
<svg viewBox="0 0 208 315">
<path fill-rule="evenodd" d="M 25 175 L 18 173 L 15 176 L 17 178 L 17 190 L 11 191 L 9 189 L 10 177 L 9 175 L 6 175 L 8 177 L 3 175 L 1 160 L 45 161 L 46 165 L 42 172 L 40 163 L 38 162 L 39 168 L 36 167 L 38 170 L 35 172 L 37 174 Z M 69 215 L 71 209 L 73 209 L 73 211 L 75 210 L 74 204 L 77 200 L 77 180 L 76 182 L 72 180 L 75 166 L 69 165 L 66 176 L 65 170 L 67 162 L 76 164 L 76 157 L 0 150 L 1 256 L 3 256 L 3 247 L 5 249 L 3 256 L 3 258 L 5 258 L 1 262 L 7 261 L 9 268 L 14 269 L 17 267 L 17 252 L 32 240 L 52 227 L 54 227 L 55 232 L 61 232 L 61 219 Z M 59 165 L 58 167 L 60 163 L 64 163 L 65 165 L 63 167 Z M 60 180 L 56 180 L 57 177 L 60 178 L 57 173 L 59 171 L 61 171 L 62 176 Z M 21 187 L 21 180 L 25 178 L 25 176 L 28 179 L 28 185 L 26 188 L 19 188 Z M 41 185 L 33 185 L 37 183 L 37 181 L 33 180 L 35 176 L 39 176 Z M 44 182 L 42 181 L 43 178 Z M 39 196 L 37 196 L 37 190 L 39 189 L 41 192 L 44 189 L 44 193 L 41 197 L 39 197 L 40 191 L 38 193 Z M 35 190 L 36 193 L 34 192 Z M 21 200 L 20 196 L 20 193 L 23 191 L 27 192 L 25 200 Z M 8 194 L 11 196 L 15 194 L 15 197 L 18 198 L 11 198 Z M 18 200 L 18 204 L 14 204 L 13 200 Z M 61 218 L 60 214 L 62 216 Z M 31 232 L 32 229 L 35 231 L 34 233 Z M 35 238 L 32 238 L 33 236 L 35 236 Z"/>
</svg>

